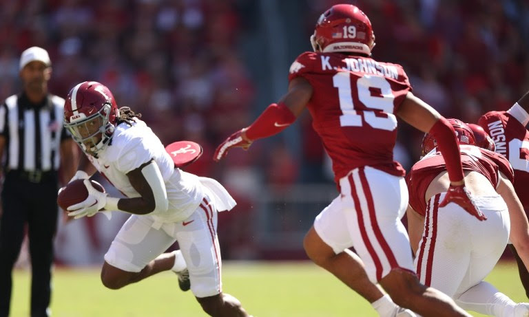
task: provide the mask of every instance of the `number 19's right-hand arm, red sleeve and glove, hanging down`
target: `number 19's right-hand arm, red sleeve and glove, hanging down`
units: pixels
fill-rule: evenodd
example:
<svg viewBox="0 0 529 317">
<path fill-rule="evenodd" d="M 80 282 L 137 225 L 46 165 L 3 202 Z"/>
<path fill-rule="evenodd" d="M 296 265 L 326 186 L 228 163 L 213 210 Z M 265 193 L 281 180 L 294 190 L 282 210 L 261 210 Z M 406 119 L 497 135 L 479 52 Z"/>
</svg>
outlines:
<svg viewBox="0 0 529 317">
<path fill-rule="evenodd" d="M 411 92 L 406 94 L 406 98 L 402 101 L 396 114 L 420 131 L 431 133 L 437 140 L 439 151 L 444 157 L 446 171 L 448 171 L 448 177 L 450 178 L 450 187 L 439 207 L 444 207 L 448 203 L 454 202 L 477 219 L 487 219 L 479 208 L 475 206 L 470 193 L 466 190 L 459 145 L 457 144 L 454 128 L 448 120 L 426 102 L 413 96 Z"/>
</svg>

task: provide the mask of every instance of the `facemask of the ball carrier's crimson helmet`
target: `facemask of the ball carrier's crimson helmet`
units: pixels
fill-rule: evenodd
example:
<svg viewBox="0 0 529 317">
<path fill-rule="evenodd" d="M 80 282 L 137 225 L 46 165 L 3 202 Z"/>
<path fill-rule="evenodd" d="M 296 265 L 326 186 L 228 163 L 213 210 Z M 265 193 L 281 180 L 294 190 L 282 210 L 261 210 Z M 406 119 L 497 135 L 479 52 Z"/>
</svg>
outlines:
<svg viewBox="0 0 529 317">
<path fill-rule="evenodd" d="M 81 146 L 83 152 L 97 157 L 97 153 L 103 151 L 112 139 L 114 124 L 110 122 L 112 105 L 105 102 L 101 109 L 86 117 L 79 113 L 76 118 L 68 118 L 65 123 L 66 129 L 72 133 L 72 138 Z"/>
</svg>

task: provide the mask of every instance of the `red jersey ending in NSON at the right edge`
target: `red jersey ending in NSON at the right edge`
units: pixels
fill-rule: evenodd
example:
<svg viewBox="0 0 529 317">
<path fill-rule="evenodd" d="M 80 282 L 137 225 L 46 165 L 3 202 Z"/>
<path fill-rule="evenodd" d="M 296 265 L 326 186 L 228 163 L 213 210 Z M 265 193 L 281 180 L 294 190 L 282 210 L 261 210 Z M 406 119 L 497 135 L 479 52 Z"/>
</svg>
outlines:
<svg viewBox="0 0 529 317">
<path fill-rule="evenodd" d="M 478 124 L 490 135 L 496 152 L 509 160 L 515 171 L 516 193 L 529 212 L 529 131 L 507 111 L 490 111 L 479 118 Z"/>
</svg>

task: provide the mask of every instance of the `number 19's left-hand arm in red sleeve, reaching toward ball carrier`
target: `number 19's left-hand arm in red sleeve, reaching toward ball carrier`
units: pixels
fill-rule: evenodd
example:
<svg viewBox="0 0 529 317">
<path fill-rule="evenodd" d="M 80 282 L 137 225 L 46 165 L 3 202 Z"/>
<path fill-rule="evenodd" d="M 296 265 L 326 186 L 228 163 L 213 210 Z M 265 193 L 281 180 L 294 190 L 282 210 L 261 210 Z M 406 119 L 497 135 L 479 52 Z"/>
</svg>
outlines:
<svg viewBox="0 0 529 317">
<path fill-rule="evenodd" d="M 277 104 L 269 105 L 249 127 L 236 131 L 217 146 L 213 160 L 222 160 L 230 149 L 247 150 L 251 142 L 280 133 L 298 118 L 311 96 L 311 84 L 302 77 L 294 78 L 289 83 L 289 91 Z"/>
</svg>

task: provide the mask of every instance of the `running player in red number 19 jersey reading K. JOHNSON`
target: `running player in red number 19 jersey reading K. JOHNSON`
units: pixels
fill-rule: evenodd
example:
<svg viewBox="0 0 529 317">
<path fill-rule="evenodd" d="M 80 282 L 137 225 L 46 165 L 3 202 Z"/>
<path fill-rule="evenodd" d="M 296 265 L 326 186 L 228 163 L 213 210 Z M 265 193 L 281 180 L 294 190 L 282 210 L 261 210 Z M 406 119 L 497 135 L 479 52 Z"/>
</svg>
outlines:
<svg viewBox="0 0 529 317">
<path fill-rule="evenodd" d="M 222 142 L 214 160 L 221 160 L 229 149 L 248 149 L 253 141 L 279 133 L 309 109 L 340 188 L 339 197 L 318 215 L 304 239 L 309 257 L 360 294 L 364 285 L 358 283 L 359 272 L 380 283 L 397 305 L 419 314 L 468 316 L 446 295 L 421 285 L 415 275 L 400 221 L 408 201 L 405 172 L 393 160 L 399 116 L 435 135 L 446 154 L 450 188 L 443 206 L 455 202 L 485 219 L 464 186 L 452 126 L 411 93 L 400 65 L 371 58 L 375 36 L 368 17 L 357 7 L 340 4 L 326 10 L 311 43 L 314 52 L 301 54 L 290 67 L 287 94 Z M 344 252 L 351 247 L 365 270 L 362 262 Z"/>
</svg>

